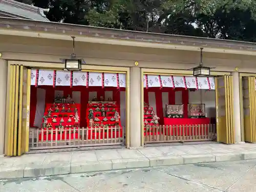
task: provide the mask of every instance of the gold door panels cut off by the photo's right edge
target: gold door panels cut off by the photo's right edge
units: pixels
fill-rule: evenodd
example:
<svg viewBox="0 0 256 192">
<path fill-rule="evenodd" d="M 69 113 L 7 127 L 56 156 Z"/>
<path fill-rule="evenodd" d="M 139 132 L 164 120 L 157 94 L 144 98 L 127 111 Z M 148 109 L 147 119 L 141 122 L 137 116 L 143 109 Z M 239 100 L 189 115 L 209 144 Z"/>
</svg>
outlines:
<svg viewBox="0 0 256 192">
<path fill-rule="evenodd" d="M 242 88 L 245 141 L 255 142 L 255 77 L 243 77 Z"/>
</svg>

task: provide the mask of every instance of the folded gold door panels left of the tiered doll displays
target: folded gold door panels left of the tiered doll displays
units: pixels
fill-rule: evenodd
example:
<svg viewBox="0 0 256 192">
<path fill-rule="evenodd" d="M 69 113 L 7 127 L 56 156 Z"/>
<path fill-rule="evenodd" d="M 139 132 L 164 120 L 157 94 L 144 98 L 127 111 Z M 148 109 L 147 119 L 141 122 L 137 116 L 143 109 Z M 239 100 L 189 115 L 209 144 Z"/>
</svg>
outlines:
<svg viewBox="0 0 256 192">
<path fill-rule="evenodd" d="M 8 123 L 7 123 L 7 141 L 5 154 L 7 156 L 19 156 L 26 152 L 26 143 L 28 140 L 28 118 L 27 115 L 27 92 L 28 69 L 19 65 L 10 66 L 10 86 L 8 102 Z M 30 74 L 30 73 L 29 73 Z M 30 79 L 29 79 L 30 80 Z M 26 105 L 26 107 L 24 107 Z M 25 108 L 25 110 L 24 110 Z M 29 110 L 29 108 L 28 108 Z M 28 111 L 29 112 L 29 111 Z M 24 121 L 26 120 L 26 123 Z"/>
</svg>

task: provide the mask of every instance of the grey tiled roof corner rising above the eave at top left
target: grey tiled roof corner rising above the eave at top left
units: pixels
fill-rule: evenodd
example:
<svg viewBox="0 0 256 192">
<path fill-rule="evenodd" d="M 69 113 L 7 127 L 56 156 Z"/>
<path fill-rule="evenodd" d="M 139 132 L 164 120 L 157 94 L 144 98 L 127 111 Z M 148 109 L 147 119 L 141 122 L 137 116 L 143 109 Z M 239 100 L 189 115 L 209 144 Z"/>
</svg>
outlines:
<svg viewBox="0 0 256 192">
<path fill-rule="evenodd" d="M 49 21 L 45 15 L 48 11 L 49 9 L 41 9 L 13 0 L 0 0 L 0 17 Z"/>
</svg>

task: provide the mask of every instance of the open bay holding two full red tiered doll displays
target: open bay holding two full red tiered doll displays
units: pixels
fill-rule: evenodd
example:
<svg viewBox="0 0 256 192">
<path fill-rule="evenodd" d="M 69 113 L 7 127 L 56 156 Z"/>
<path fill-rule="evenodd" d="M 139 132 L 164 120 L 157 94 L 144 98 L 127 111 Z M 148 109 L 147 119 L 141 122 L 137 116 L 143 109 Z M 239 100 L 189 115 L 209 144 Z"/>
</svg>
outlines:
<svg viewBox="0 0 256 192">
<path fill-rule="evenodd" d="M 126 74 L 31 70 L 30 150 L 125 146 Z"/>
</svg>

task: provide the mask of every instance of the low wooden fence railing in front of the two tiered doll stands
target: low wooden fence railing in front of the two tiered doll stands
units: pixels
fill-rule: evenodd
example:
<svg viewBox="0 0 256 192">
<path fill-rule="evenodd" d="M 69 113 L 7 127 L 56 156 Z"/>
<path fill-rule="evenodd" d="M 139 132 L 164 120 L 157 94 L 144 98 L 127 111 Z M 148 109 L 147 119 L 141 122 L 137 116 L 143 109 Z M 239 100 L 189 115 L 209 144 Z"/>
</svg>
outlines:
<svg viewBox="0 0 256 192">
<path fill-rule="evenodd" d="M 66 129 L 30 129 L 30 150 L 48 148 L 121 145 L 124 127 L 70 127 Z"/>
</svg>

